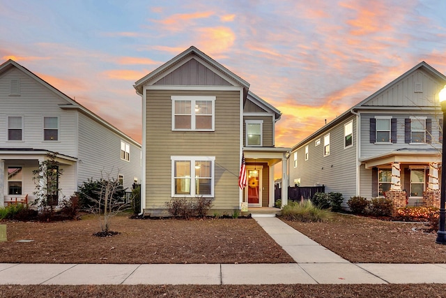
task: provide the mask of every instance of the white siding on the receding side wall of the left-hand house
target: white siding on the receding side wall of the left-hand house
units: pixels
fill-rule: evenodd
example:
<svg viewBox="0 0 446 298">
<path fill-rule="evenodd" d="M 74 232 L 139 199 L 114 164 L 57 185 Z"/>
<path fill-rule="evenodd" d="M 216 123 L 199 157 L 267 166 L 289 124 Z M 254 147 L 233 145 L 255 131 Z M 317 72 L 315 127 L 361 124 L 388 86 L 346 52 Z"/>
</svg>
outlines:
<svg viewBox="0 0 446 298">
<path fill-rule="evenodd" d="M 130 145 L 130 161 L 121 159 L 121 140 Z M 139 147 L 79 112 L 78 185 L 107 175 L 118 179 L 122 174 L 124 188 L 131 190 L 135 177 L 141 181 L 141 168 Z"/>
</svg>

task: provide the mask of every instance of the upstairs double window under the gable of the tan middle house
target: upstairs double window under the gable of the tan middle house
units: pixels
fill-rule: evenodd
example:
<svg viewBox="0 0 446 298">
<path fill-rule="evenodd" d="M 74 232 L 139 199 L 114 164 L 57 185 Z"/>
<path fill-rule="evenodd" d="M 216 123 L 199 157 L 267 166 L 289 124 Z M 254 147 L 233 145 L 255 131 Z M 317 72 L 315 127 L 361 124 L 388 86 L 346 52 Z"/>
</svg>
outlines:
<svg viewBox="0 0 446 298">
<path fill-rule="evenodd" d="M 214 131 L 215 96 L 172 96 L 173 131 Z"/>
</svg>

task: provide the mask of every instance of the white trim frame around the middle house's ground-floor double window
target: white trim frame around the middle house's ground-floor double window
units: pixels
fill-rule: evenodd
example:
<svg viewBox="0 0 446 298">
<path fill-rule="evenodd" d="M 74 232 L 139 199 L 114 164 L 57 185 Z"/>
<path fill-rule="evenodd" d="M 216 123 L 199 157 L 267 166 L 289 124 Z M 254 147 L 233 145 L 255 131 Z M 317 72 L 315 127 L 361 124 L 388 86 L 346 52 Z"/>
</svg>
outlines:
<svg viewBox="0 0 446 298">
<path fill-rule="evenodd" d="M 215 156 L 171 156 L 171 197 L 172 198 L 195 198 L 195 167 L 196 161 L 210 161 L 210 195 L 203 195 L 203 198 L 214 198 L 215 192 Z M 190 161 L 190 194 L 175 193 L 175 162 Z"/>
</svg>

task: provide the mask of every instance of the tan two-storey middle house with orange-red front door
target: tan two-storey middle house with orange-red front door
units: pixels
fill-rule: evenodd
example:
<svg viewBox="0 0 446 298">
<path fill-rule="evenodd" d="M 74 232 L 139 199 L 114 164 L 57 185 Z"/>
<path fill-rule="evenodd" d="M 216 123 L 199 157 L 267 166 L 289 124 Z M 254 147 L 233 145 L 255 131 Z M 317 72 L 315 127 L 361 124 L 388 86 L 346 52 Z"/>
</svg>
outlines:
<svg viewBox="0 0 446 298">
<path fill-rule="evenodd" d="M 213 199 L 212 212 L 274 206 L 281 113 L 249 91 L 249 84 L 196 47 L 153 70 L 134 85 L 143 107 L 141 211 L 167 214 L 171 198 Z M 238 176 L 245 154 L 247 181 Z M 286 188 L 284 188 L 286 191 Z"/>
</svg>

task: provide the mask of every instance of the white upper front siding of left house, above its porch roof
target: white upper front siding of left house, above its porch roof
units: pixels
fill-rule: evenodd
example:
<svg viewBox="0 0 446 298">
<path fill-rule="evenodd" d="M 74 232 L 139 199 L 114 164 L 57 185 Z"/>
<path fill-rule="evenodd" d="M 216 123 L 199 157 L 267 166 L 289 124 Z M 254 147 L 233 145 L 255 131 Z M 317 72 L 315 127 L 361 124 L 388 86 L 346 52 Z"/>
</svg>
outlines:
<svg viewBox="0 0 446 298">
<path fill-rule="evenodd" d="M 10 80 L 20 80 L 20 96 L 10 96 Z M 75 156 L 76 116 L 75 112 L 62 110 L 66 104 L 52 91 L 36 82 L 17 68 L 0 76 L 0 140 L 4 148 L 44 149 L 67 156 Z M 8 141 L 8 116 L 22 116 L 20 142 Z M 43 140 L 43 117 L 59 117 L 59 140 Z"/>
</svg>

